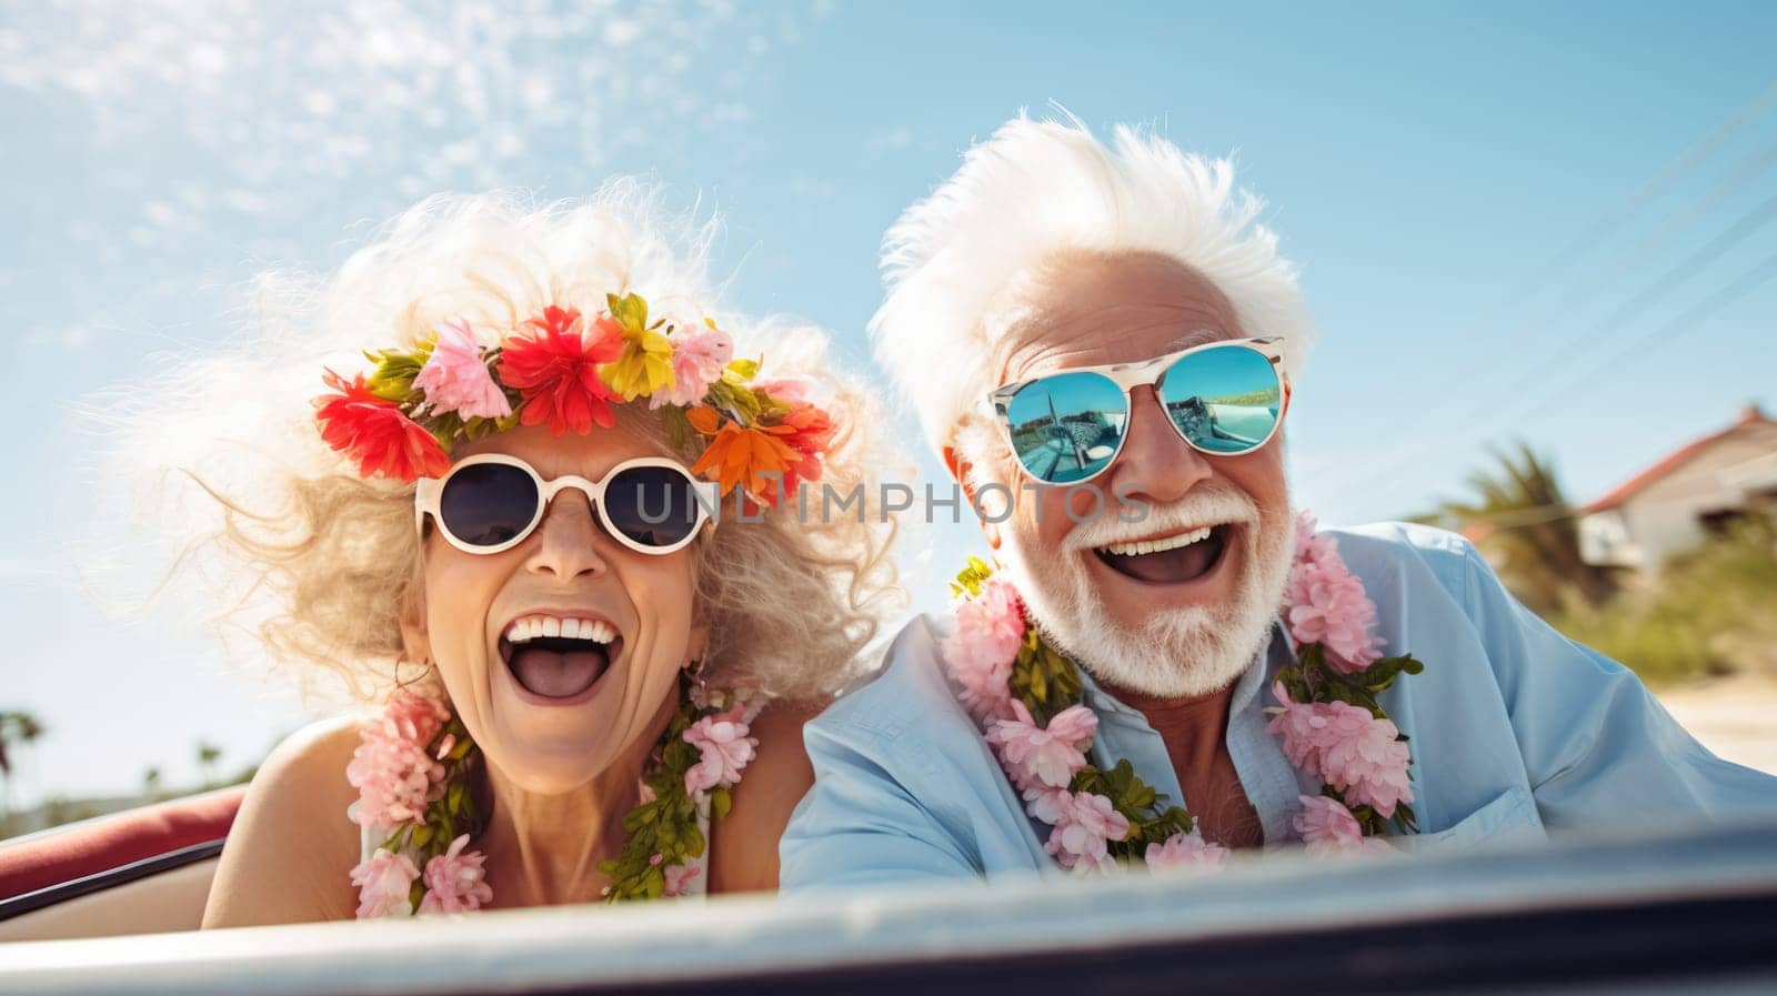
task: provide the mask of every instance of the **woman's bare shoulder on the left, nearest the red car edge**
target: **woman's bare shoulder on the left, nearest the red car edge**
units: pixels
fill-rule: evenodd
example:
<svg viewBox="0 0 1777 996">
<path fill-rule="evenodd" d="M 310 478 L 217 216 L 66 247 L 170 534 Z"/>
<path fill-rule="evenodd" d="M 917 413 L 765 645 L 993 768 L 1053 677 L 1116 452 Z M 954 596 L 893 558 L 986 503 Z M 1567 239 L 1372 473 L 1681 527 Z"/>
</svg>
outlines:
<svg viewBox="0 0 1777 996">
<path fill-rule="evenodd" d="M 357 749 L 354 717 L 311 723 L 259 765 L 222 847 L 204 927 L 348 920 L 359 827 L 345 778 Z"/>
</svg>

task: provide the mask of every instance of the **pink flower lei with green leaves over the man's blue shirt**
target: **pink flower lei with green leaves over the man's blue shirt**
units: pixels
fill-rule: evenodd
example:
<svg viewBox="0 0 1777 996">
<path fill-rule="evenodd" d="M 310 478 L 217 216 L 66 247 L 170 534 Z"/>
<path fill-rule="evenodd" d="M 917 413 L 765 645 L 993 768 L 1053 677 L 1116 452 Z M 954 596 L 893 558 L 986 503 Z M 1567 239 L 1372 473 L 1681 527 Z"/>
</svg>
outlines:
<svg viewBox="0 0 1777 996">
<path fill-rule="evenodd" d="M 1205 842 L 1196 820 L 1136 776 L 1127 760 L 1102 771 L 1088 762 L 1098 717 L 1080 703 L 1077 666 L 1029 625 L 1018 591 L 970 557 L 951 586 L 956 630 L 942 657 L 958 701 L 981 726 L 993 756 L 1050 827 L 1043 849 L 1075 872 L 1215 868 L 1228 849 Z M 1303 795 L 1294 829 L 1310 856 L 1386 852 L 1381 836 L 1418 829 L 1407 739 L 1377 703 L 1413 657 L 1383 657 L 1372 636 L 1375 604 L 1315 520 L 1295 520 L 1295 565 L 1283 618 L 1297 660 L 1278 673 L 1267 731 L 1299 771 L 1322 783 Z"/>
</svg>

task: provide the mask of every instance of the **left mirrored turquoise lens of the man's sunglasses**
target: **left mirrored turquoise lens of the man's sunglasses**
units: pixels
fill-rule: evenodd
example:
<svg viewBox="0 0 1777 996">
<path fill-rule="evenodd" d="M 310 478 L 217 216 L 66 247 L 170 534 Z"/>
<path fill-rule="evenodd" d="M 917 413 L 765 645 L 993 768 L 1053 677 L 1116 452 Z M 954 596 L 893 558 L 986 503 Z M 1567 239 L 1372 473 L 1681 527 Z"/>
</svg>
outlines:
<svg viewBox="0 0 1777 996">
<path fill-rule="evenodd" d="M 1050 485 L 1084 481 L 1116 456 L 1128 428 L 1128 398 L 1100 373 L 1059 373 L 1006 405 L 1018 463 Z"/>
</svg>

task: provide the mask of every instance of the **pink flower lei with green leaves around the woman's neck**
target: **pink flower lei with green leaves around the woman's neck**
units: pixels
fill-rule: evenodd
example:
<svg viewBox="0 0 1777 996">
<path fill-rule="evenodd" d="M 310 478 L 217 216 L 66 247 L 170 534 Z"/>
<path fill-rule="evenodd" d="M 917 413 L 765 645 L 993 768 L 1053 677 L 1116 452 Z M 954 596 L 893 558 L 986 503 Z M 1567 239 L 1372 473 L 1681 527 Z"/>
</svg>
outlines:
<svg viewBox="0 0 1777 996">
<path fill-rule="evenodd" d="M 702 873 L 707 842 L 698 815 L 721 820 L 759 740 L 750 735 L 762 700 L 686 684 L 679 710 L 638 787 L 640 804 L 617 858 L 599 863 L 606 902 L 677 897 Z M 387 834 L 352 868 L 359 918 L 466 913 L 492 902 L 469 842 L 483 829 L 469 776 L 480 760 L 462 721 L 435 700 L 398 691 L 359 726 L 347 765 L 357 802 L 347 815 Z"/>
</svg>

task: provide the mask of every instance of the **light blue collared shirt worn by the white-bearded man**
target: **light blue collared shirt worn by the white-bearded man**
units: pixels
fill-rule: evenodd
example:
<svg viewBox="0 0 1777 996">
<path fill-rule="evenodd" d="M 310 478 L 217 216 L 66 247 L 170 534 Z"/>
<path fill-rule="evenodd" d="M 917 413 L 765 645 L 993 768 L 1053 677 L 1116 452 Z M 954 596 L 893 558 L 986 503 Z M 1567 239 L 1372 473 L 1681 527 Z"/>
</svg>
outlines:
<svg viewBox="0 0 1777 996">
<path fill-rule="evenodd" d="M 1411 742 L 1422 831 L 1391 842 L 1462 847 L 1582 824 L 1777 815 L 1777 778 L 1704 749 L 1633 673 L 1519 605 L 1461 536 L 1400 524 L 1329 534 L 1377 605 L 1383 652 L 1425 662 L 1381 696 Z M 816 785 L 782 840 L 785 891 L 1059 870 L 1043 854 L 1047 827 L 1025 815 L 956 701 L 938 657 L 951 625 L 913 620 L 881 671 L 809 723 Z M 1290 655 L 1278 625 L 1228 715 L 1228 753 L 1267 849 L 1295 840 L 1299 797 L 1320 788 L 1265 731 L 1271 680 Z M 1093 762 L 1128 758 L 1189 808 L 1160 735 L 1086 682 Z"/>
</svg>

